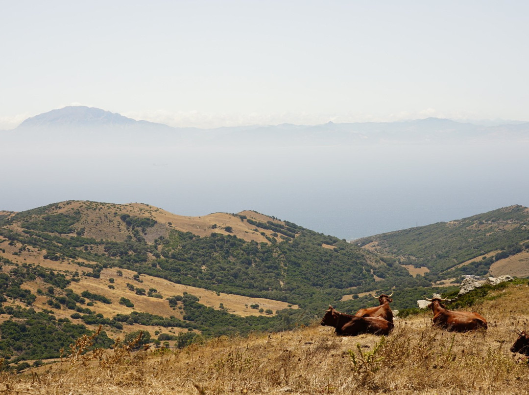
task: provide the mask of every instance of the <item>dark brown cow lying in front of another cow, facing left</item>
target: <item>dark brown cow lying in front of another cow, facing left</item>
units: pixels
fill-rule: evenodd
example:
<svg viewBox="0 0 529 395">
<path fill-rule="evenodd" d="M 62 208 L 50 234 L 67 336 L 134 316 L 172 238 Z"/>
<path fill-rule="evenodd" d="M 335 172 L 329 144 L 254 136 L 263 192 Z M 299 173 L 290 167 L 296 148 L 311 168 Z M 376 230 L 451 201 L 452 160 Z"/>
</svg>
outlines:
<svg viewBox="0 0 529 395">
<path fill-rule="evenodd" d="M 337 312 L 332 306 L 323 316 L 322 325 L 334 326 L 337 335 L 356 336 L 361 333 L 388 335 L 393 323 L 380 317 L 356 317 Z"/>
</svg>

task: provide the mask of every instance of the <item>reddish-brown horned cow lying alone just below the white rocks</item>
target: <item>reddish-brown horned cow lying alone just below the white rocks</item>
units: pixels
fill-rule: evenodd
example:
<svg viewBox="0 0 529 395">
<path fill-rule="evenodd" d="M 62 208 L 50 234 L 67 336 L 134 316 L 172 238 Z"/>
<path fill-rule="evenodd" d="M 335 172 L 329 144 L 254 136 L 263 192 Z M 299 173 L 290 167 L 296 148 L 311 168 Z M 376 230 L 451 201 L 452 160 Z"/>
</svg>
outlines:
<svg viewBox="0 0 529 395">
<path fill-rule="evenodd" d="M 454 332 L 467 332 L 476 329 L 487 329 L 487 321 L 478 313 L 470 312 L 453 312 L 447 310 L 441 303 L 447 298 L 439 299 L 433 298 L 432 303 L 428 305 L 433 311 L 433 325 L 440 326 L 449 331 Z"/>
</svg>

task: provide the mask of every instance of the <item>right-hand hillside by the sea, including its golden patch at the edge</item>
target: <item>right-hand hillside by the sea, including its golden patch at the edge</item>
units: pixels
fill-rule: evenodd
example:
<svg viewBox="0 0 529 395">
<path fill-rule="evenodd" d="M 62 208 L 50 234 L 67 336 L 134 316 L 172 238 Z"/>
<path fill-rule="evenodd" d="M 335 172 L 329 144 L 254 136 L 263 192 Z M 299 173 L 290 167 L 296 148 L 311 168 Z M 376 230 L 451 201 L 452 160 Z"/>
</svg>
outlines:
<svg viewBox="0 0 529 395">
<path fill-rule="evenodd" d="M 355 240 L 364 249 L 396 259 L 402 265 L 422 268 L 435 280 L 460 275 L 463 266 L 494 257 L 509 244 L 527 246 L 529 208 L 515 205 L 474 215 L 458 221 L 439 222 L 424 227 Z M 488 262 L 488 261 L 487 261 Z M 525 277 L 529 274 L 527 252 L 495 261 L 491 274 Z M 473 274 L 469 270 L 468 274 Z"/>
</svg>

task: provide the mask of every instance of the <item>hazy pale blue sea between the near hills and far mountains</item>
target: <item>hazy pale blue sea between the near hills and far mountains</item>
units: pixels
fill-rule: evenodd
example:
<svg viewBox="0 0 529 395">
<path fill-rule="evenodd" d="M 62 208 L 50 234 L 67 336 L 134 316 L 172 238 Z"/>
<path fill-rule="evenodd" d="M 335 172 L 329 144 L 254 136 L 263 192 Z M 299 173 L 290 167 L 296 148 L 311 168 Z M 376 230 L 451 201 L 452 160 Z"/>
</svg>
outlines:
<svg viewBox="0 0 529 395">
<path fill-rule="evenodd" d="M 345 239 L 529 206 L 527 144 L 13 146 L 0 210 L 143 202 L 179 215 L 256 210 Z M 9 170 L 7 170 L 9 169 Z"/>
</svg>

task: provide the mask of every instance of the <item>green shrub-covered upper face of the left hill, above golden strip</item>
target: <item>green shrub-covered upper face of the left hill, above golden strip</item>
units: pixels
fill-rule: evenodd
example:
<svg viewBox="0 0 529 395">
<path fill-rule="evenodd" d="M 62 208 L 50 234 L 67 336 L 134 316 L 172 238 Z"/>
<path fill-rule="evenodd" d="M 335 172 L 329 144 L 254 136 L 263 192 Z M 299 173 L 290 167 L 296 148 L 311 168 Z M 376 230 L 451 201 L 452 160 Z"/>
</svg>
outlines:
<svg viewBox="0 0 529 395">
<path fill-rule="evenodd" d="M 16 213 L 0 222 L 0 236 L 20 244 L 20 252 L 25 248 L 44 250 L 44 259 L 84 260 L 81 265 L 89 277 L 97 277 L 103 268 L 119 267 L 178 284 L 302 307 L 325 295 L 341 296 L 350 287 L 376 289 L 375 276 L 406 276 L 404 269 L 387 265 L 358 246 L 290 222 L 261 222 L 232 214 L 261 232 L 265 241 L 215 231 L 201 237 L 172 228 L 148 242 L 145 236 L 157 224 L 156 219 L 120 214 L 114 205 L 99 204 L 97 210 L 107 211 L 108 217 L 125 228 L 124 240 L 116 241 L 86 237 L 86 225 L 81 226 L 83 211 L 74 206 L 57 212 L 58 207 L 67 205 Z M 272 233 L 268 236 L 264 230 Z"/>
</svg>

